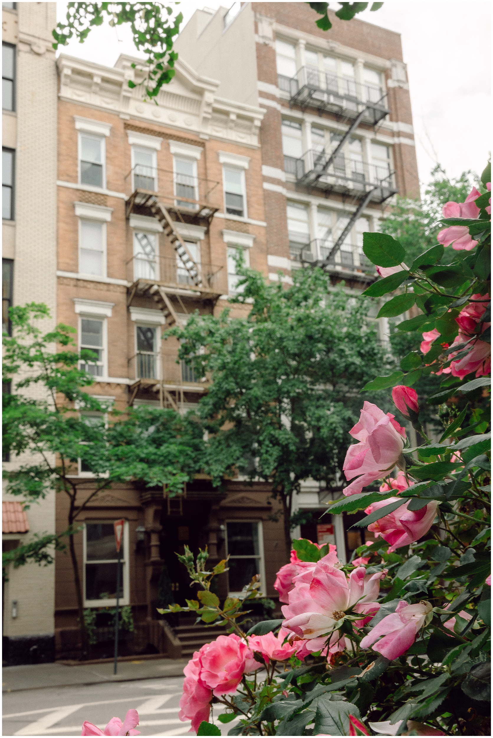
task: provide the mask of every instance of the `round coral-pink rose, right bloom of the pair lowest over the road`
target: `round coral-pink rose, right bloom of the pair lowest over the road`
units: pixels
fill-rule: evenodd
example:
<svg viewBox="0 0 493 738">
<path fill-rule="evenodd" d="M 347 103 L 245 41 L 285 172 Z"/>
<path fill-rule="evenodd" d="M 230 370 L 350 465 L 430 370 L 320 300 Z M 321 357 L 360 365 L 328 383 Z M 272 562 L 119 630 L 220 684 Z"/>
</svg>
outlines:
<svg viewBox="0 0 493 738">
<path fill-rule="evenodd" d="M 247 668 L 247 658 L 250 662 L 248 646 L 238 635 L 218 635 L 203 652 L 200 677 L 216 697 L 234 694 Z"/>
</svg>

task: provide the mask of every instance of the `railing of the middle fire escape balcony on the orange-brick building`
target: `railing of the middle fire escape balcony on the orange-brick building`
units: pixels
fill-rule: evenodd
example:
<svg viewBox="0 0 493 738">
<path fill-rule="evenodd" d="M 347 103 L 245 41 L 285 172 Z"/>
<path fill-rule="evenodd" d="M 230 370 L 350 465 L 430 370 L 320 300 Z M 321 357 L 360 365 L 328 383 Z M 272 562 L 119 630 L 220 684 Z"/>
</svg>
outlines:
<svg viewBox="0 0 493 738">
<path fill-rule="evenodd" d="M 223 289 L 224 285 L 222 286 L 220 283 L 220 272 L 222 270 L 222 266 L 197 263 L 199 289 L 210 289 L 212 291 Z M 130 283 L 137 280 L 148 280 L 183 289 L 189 287 L 197 289 L 197 285 L 192 281 L 192 277 L 190 277 L 178 256 L 174 258 L 144 254 L 133 256 L 127 261 L 127 280 Z"/>
</svg>

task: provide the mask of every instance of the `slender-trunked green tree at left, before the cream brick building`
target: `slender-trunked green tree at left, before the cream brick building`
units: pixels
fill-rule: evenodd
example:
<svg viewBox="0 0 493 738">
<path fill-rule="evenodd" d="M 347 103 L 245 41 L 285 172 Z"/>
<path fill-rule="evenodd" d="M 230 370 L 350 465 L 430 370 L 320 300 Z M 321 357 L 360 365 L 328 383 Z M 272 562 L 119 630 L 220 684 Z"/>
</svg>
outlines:
<svg viewBox="0 0 493 738">
<path fill-rule="evenodd" d="M 94 362 L 95 354 L 74 351 L 75 331 L 67 325 L 43 334 L 36 326 L 43 317 L 49 317 L 43 304 L 10 309 L 13 336 L 4 337 L 3 372 L 15 391 L 6 396 L 4 444 L 21 458 L 4 476 L 7 491 L 22 497 L 26 508 L 53 490 L 66 494 L 68 527 L 60 536 L 50 534 L 10 551 L 7 562 L 49 564 L 47 547 L 63 548 L 60 539 L 68 536 L 85 651 L 83 587 L 74 547 L 81 513 L 114 482 L 181 492 L 203 465 L 203 434 L 191 416 L 182 418 L 173 410 L 139 407 L 125 416 L 114 413 L 85 391 L 94 379 L 78 368 L 79 361 Z M 32 398 L 35 385 L 44 390 L 43 399 Z M 80 476 L 79 467 L 91 475 Z"/>
</svg>

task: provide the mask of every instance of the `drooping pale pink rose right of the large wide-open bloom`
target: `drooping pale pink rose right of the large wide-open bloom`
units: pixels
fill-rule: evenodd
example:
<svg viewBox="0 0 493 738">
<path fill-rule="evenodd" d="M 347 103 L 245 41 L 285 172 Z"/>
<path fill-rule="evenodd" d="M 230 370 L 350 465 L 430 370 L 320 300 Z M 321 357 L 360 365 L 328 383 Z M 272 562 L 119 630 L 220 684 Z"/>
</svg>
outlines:
<svg viewBox="0 0 493 738">
<path fill-rule="evenodd" d="M 408 604 L 401 600 L 396 607 L 395 613 L 387 615 L 380 621 L 368 635 L 363 638 L 361 648 L 369 648 L 382 654 L 389 661 L 399 658 L 413 645 L 417 632 L 424 625 L 428 613 L 433 610 L 432 605 L 423 601 L 419 604 Z M 373 646 L 380 636 L 383 638 Z"/>
</svg>

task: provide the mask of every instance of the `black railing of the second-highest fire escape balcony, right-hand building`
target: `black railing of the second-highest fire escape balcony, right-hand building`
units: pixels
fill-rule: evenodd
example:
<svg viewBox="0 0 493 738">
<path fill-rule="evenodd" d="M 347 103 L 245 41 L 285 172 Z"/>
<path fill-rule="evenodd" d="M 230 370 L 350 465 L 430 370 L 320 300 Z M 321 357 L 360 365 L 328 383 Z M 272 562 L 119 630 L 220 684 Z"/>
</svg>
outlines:
<svg viewBox="0 0 493 738">
<path fill-rule="evenodd" d="M 371 195 L 371 201 L 381 203 L 394 195 L 394 173 L 388 165 L 364 164 L 338 154 L 327 167 L 330 154 L 326 151 L 310 149 L 300 159 L 290 159 L 288 165 L 296 176 L 299 184 L 307 187 L 318 187 L 321 190 L 351 194 L 358 199 L 366 197 L 368 190 L 377 186 Z"/>
</svg>

